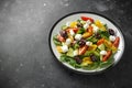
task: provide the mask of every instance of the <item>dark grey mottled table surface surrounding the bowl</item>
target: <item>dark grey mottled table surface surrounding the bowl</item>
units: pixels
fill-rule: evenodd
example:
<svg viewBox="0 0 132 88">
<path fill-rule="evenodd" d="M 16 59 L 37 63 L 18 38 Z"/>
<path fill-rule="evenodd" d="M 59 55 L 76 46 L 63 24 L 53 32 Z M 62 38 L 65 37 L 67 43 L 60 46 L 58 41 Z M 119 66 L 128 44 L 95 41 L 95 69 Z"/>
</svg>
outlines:
<svg viewBox="0 0 132 88">
<path fill-rule="evenodd" d="M 125 52 L 113 68 L 78 75 L 56 62 L 51 28 L 77 11 L 103 14 L 122 29 Z M 131 0 L 0 0 L 0 88 L 131 88 Z"/>
</svg>

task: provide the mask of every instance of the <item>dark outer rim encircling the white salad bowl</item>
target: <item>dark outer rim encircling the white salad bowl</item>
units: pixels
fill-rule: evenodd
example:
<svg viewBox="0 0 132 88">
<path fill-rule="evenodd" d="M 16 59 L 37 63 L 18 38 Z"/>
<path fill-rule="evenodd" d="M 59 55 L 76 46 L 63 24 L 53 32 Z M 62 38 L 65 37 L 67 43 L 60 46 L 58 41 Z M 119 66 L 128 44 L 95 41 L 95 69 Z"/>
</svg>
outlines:
<svg viewBox="0 0 132 88">
<path fill-rule="evenodd" d="M 54 57 L 57 59 L 57 62 L 58 62 L 59 64 L 62 64 L 62 66 L 64 66 L 65 68 L 72 70 L 72 72 L 78 73 L 78 74 L 96 75 L 96 74 L 100 74 L 100 73 L 103 73 L 103 72 L 112 68 L 114 65 L 117 65 L 117 64 L 119 63 L 119 61 L 117 61 L 116 63 L 111 64 L 110 66 L 108 66 L 107 68 L 101 69 L 101 70 L 81 72 L 81 70 L 77 70 L 77 69 L 74 69 L 74 68 L 70 68 L 70 67 L 64 65 L 64 63 L 61 62 L 61 61 L 58 59 L 58 57 L 56 57 L 56 55 L 54 54 L 53 48 L 52 48 L 52 43 L 51 43 L 51 38 L 52 38 L 51 36 L 52 36 L 52 32 L 53 32 L 54 28 L 55 28 L 55 26 L 57 25 L 57 23 L 59 23 L 63 19 L 65 19 L 65 18 L 67 18 L 67 16 L 69 16 L 69 15 L 78 14 L 78 13 L 90 13 L 90 14 L 96 14 L 96 15 L 102 16 L 102 18 L 105 18 L 106 20 L 110 21 L 110 22 L 118 29 L 118 31 L 120 31 L 120 33 L 121 33 L 121 35 L 122 35 L 122 38 L 123 38 L 123 44 L 124 44 L 124 46 L 123 46 L 123 52 L 122 52 L 122 54 L 120 55 L 119 61 L 122 58 L 122 56 L 123 56 L 123 54 L 124 54 L 124 51 L 125 51 L 125 37 L 124 37 L 124 34 L 123 34 L 122 30 L 120 29 L 120 26 L 119 26 L 113 20 L 109 19 L 108 16 L 106 16 L 106 15 L 103 15 L 103 14 L 100 14 L 100 13 L 97 13 L 97 12 L 90 12 L 90 11 L 77 11 L 77 12 L 72 12 L 72 13 L 65 14 L 64 16 L 62 16 L 61 19 L 58 19 L 58 20 L 53 24 L 53 26 L 52 26 L 52 29 L 51 29 L 51 31 L 50 31 L 50 35 L 48 35 L 48 45 L 50 45 L 50 50 L 51 50 L 52 54 L 53 54 Z M 82 69 L 82 70 L 85 70 L 85 69 Z"/>
</svg>

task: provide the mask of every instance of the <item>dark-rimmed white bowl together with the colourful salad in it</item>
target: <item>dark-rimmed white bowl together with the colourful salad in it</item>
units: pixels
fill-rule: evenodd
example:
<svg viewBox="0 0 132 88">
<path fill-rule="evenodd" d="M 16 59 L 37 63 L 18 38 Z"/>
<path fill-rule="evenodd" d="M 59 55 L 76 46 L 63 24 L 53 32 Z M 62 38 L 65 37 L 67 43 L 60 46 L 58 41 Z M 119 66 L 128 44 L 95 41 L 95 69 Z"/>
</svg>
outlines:
<svg viewBox="0 0 132 88">
<path fill-rule="evenodd" d="M 92 34 L 87 35 L 88 32 Z M 53 25 L 50 47 L 55 59 L 68 69 L 97 74 L 118 64 L 124 52 L 124 37 L 121 29 L 107 16 L 74 12 Z"/>
</svg>

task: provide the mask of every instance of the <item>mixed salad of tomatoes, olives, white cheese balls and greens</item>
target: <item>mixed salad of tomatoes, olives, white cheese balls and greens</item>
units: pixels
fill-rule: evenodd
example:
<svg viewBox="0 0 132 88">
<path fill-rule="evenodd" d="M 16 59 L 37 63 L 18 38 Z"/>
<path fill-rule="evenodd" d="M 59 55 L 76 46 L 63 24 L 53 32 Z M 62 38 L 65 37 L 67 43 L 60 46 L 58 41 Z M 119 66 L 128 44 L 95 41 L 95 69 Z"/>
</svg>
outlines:
<svg viewBox="0 0 132 88">
<path fill-rule="evenodd" d="M 61 62 L 91 70 L 114 62 L 120 37 L 114 29 L 100 20 L 82 15 L 63 24 L 59 33 L 53 36 L 53 42 L 61 54 Z"/>
</svg>

